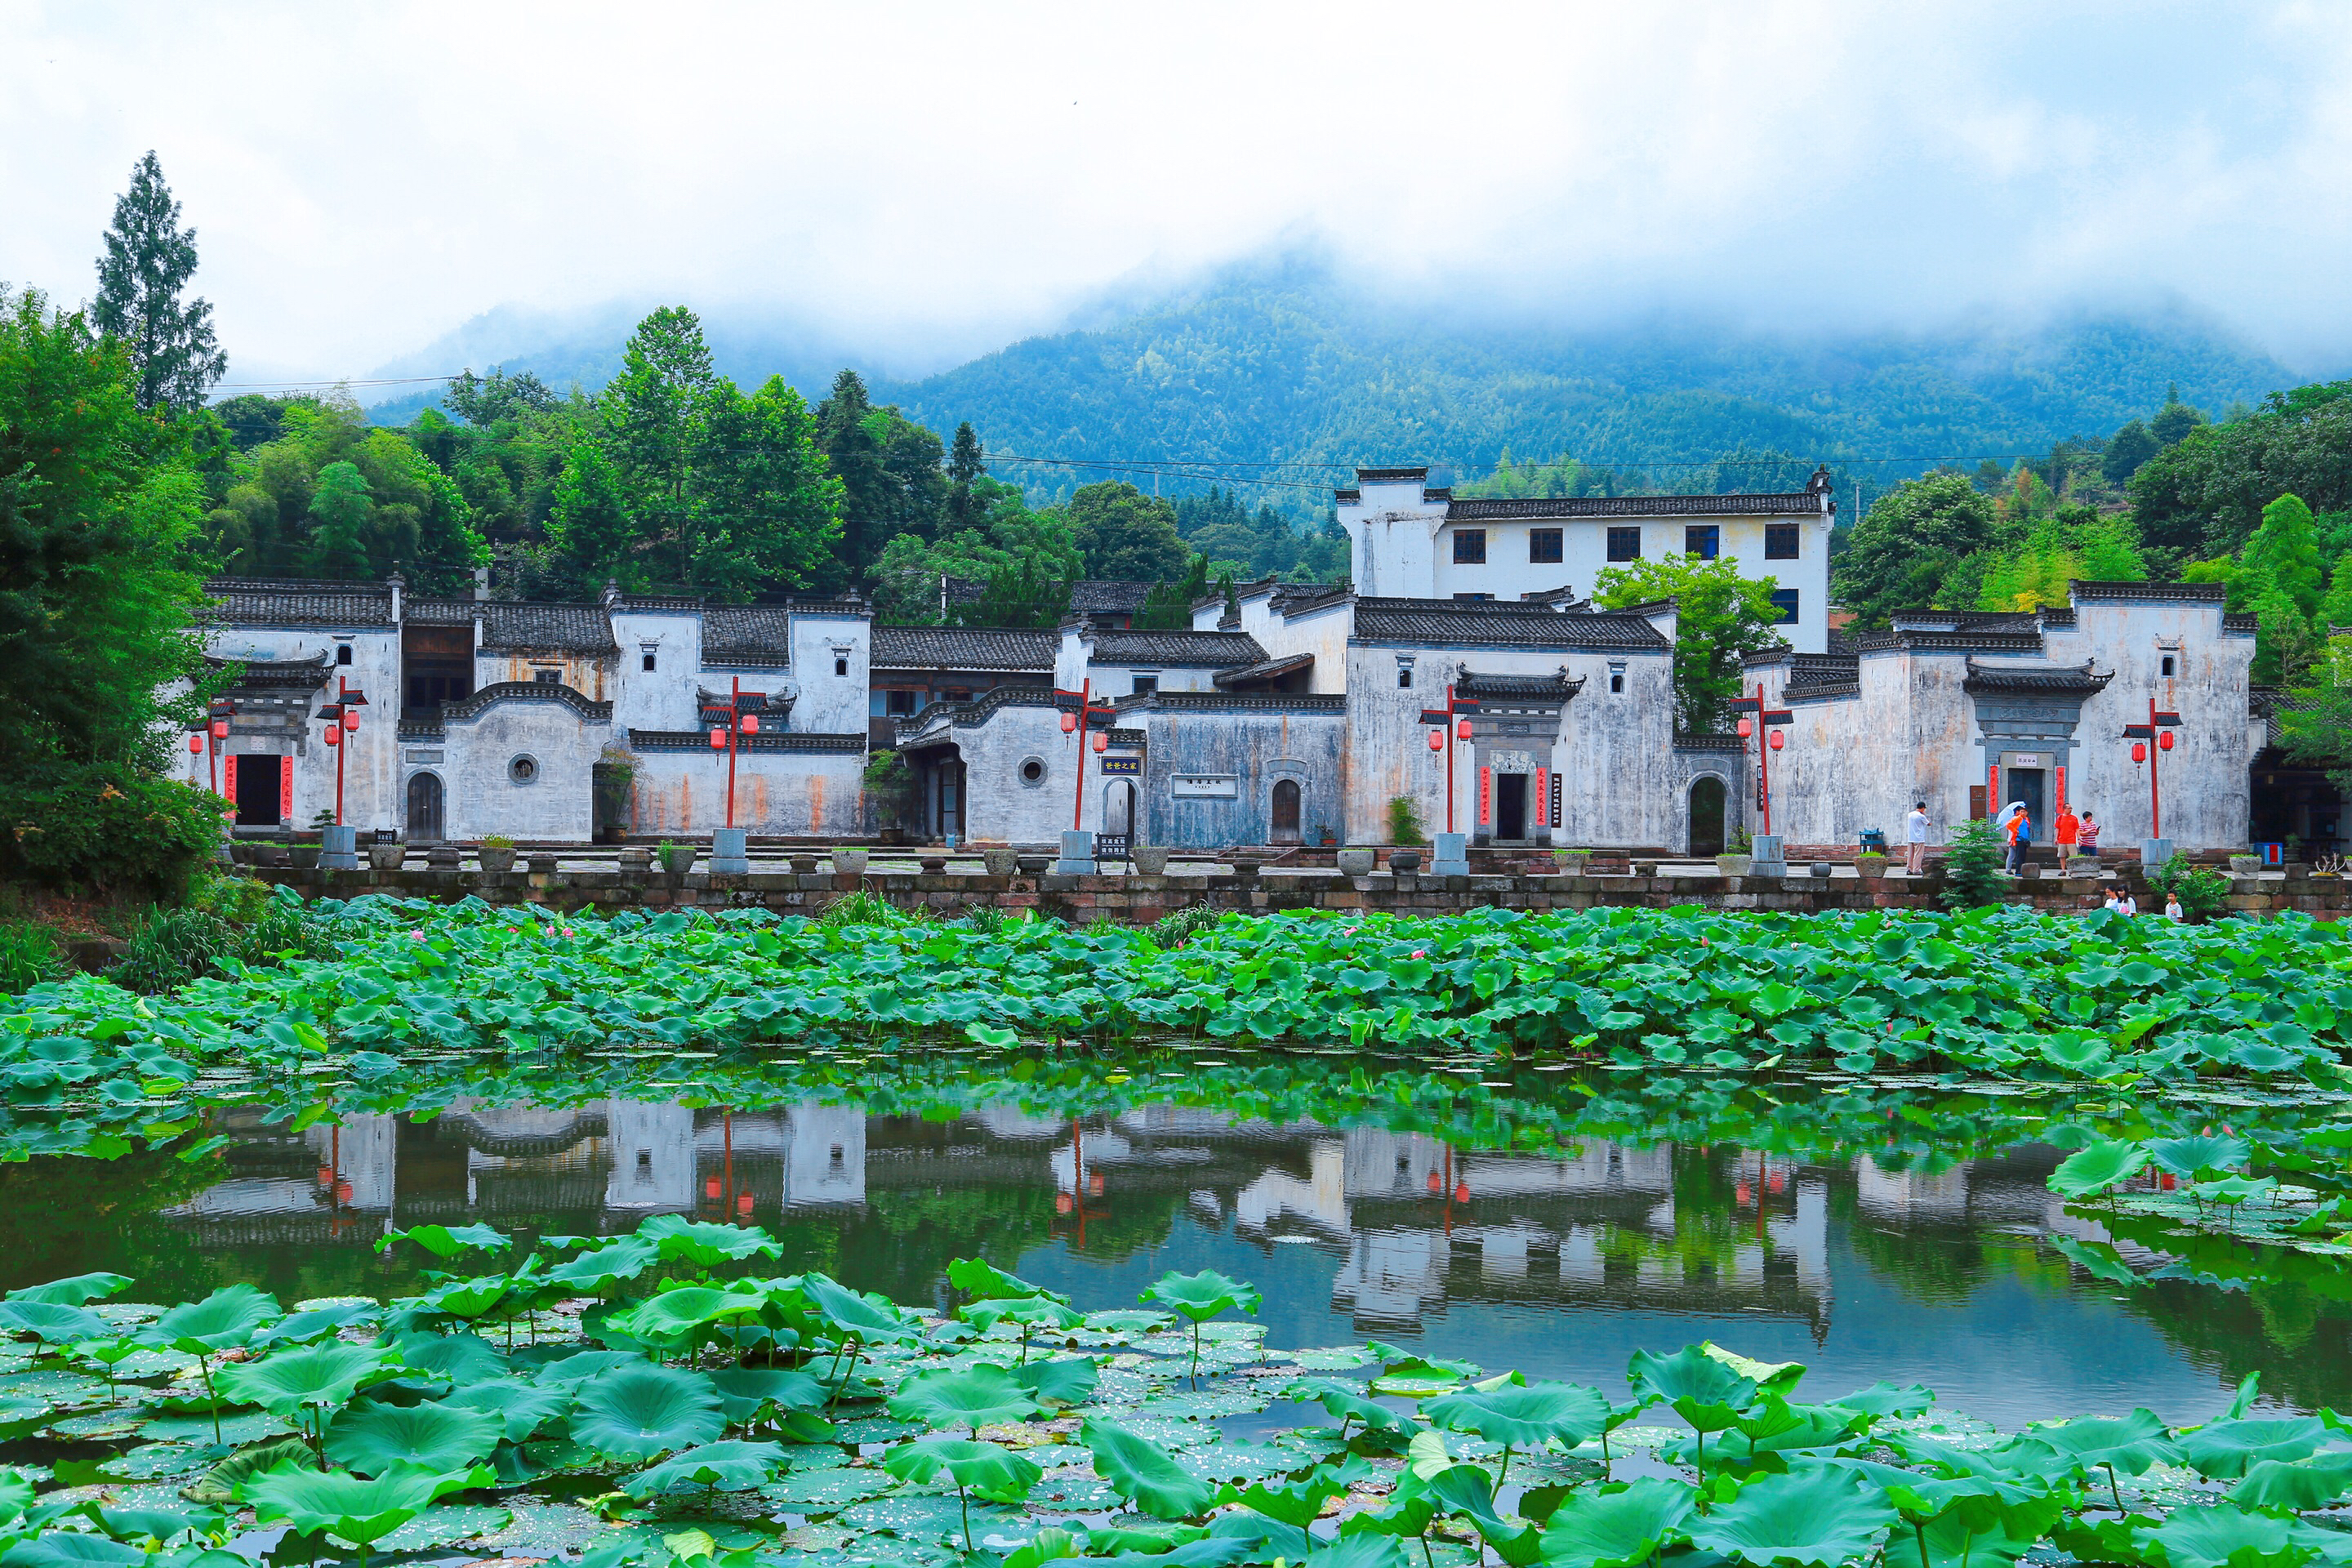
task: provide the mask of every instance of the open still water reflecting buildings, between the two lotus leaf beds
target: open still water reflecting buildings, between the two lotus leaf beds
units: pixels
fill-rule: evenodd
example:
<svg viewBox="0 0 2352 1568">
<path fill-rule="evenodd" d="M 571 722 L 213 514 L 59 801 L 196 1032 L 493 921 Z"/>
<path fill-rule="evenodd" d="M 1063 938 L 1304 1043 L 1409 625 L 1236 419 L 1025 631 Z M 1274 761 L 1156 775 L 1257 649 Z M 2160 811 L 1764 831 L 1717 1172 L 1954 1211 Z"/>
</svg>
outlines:
<svg viewBox="0 0 2352 1568">
<path fill-rule="evenodd" d="M 946 1262 L 971 1253 L 1084 1309 L 1214 1267 L 1265 1291 L 1275 1347 L 1378 1338 L 1599 1387 L 1637 1347 L 1710 1338 L 1809 1363 L 1816 1396 L 1926 1382 L 2004 1429 L 2140 1403 L 2206 1420 L 2246 1371 L 2265 1403 L 2352 1403 L 2343 1293 L 2100 1284 L 2046 1244 L 2103 1229 L 2049 1194 L 2060 1152 L 2034 1143 L 1882 1168 L 1604 1140 L 1555 1157 L 1183 1105 L 941 1119 L 626 1098 L 301 1131 L 230 1110 L 209 1131 L 230 1143 L 198 1161 L 9 1166 L 0 1286 L 118 1269 L 146 1300 L 233 1279 L 289 1302 L 393 1295 L 416 1281 L 414 1248 L 376 1253 L 393 1225 L 588 1234 L 689 1213 L 779 1234 L 779 1269 L 908 1305 L 943 1305 Z"/>
</svg>

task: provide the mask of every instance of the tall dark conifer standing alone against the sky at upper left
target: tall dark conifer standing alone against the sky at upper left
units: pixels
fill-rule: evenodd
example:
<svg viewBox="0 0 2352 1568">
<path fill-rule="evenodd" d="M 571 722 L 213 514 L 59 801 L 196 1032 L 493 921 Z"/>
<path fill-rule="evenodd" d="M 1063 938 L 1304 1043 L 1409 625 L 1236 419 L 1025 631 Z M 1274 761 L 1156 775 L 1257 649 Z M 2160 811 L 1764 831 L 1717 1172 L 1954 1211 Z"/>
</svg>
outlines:
<svg viewBox="0 0 2352 1568">
<path fill-rule="evenodd" d="M 132 188 L 115 197 L 99 296 L 89 306 L 96 329 L 129 353 L 141 409 L 198 409 L 228 369 L 212 334 L 212 306 L 181 299 L 191 277 L 195 230 L 179 226 L 179 202 L 151 150 L 132 165 Z"/>
</svg>

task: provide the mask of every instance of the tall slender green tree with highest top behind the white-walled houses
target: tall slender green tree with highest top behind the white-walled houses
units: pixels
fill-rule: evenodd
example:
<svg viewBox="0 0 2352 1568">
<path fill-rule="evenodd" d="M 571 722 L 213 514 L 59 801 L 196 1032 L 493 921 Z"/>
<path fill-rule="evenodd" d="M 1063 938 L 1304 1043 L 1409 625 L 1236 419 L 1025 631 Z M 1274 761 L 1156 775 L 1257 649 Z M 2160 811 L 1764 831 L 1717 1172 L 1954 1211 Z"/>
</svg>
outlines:
<svg viewBox="0 0 2352 1568">
<path fill-rule="evenodd" d="M 717 386 L 701 320 L 684 306 L 663 306 L 637 322 L 621 350 L 621 374 L 600 400 L 630 512 L 670 583 L 694 576 L 696 461 L 708 451 Z"/>
</svg>

